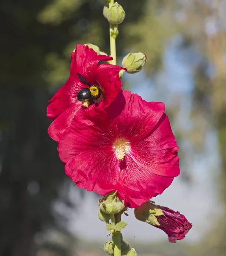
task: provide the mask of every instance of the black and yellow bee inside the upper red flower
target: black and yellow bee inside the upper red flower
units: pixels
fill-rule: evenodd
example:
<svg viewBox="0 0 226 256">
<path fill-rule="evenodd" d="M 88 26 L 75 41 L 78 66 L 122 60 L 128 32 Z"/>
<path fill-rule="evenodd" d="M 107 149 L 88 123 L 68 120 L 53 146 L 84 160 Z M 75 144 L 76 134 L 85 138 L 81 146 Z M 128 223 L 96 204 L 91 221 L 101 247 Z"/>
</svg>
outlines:
<svg viewBox="0 0 226 256">
<path fill-rule="evenodd" d="M 91 85 L 81 74 L 77 73 L 79 80 L 89 86 L 89 88 L 83 88 L 77 94 L 77 99 L 82 102 L 83 106 L 89 107 L 94 104 L 94 100 L 97 100 L 102 95 L 99 87 Z"/>
</svg>

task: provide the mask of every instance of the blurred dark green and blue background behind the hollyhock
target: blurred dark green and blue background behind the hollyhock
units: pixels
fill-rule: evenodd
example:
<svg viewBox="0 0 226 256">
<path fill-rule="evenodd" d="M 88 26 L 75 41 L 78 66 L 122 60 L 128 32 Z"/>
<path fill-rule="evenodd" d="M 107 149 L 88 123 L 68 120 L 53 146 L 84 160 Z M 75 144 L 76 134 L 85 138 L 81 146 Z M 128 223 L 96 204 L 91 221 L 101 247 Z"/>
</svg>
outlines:
<svg viewBox="0 0 226 256">
<path fill-rule="evenodd" d="M 105 0 L 0 3 L 0 256 L 100 256 L 107 240 L 98 195 L 73 186 L 46 107 L 69 77 L 70 52 L 92 43 L 109 54 Z M 170 244 L 129 211 L 124 239 L 142 256 L 226 255 L 226 1 L 119 0 L 117 61 L 143 52 L 123 87 L 166 104 L 180 146 L 180 177 L 157 204 L 193 228 Z"/>
</svg>

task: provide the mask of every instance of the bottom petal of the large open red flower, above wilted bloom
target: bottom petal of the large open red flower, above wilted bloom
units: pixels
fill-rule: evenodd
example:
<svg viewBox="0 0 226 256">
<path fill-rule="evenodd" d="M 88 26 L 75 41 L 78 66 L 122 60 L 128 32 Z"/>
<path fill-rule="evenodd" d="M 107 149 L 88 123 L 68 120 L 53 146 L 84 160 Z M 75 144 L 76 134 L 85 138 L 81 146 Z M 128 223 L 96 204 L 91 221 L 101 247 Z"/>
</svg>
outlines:
<svg viewBox="0 0 226 256">
<path fill-rule="evenodd" d="M 149 162 L 149 169 L 127 154 L 121 162 L 117 161 L 115 166 L 115 189 L 118 197 L 125 201 L 125 205 L 135 208 L 161 194 L 171 183 L 173 177 L 164 177 L 152 173 L 152 163 Z"/>
</svg>

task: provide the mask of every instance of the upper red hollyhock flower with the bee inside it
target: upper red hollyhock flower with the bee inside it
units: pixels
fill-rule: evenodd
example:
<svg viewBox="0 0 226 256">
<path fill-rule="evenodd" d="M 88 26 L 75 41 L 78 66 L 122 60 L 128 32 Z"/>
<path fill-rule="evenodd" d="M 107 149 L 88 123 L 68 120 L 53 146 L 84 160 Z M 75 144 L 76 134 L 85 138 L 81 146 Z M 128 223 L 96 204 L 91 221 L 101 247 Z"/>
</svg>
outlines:
<svg viewBox="0 0 226 256">
<path fill-rule="evenodd" d="M 119 71 L 122 67 L 111 64 L 98 65 L 99 61 L 109 61 L 112 57 L 97 55 L 93 49 L 82 44 L 77 45 L 71 57 L 70 77 L 52 97 L 47 108 L 47 116 L 54 120 L 48 132 L 56 141 L 60 140 L 60 134 L 70 125 L 75 113 L 82 105 L 88 107 L 94 103 L 103 110 L 113 102 L 122 87 L 119 79 Z M 85 90 L 87 96 L 87 93 L 91 93 L 91 88 L 98 89 L 94 90 L 99 94 L 94 94 L 94 97 L 83 102 L 77 99 L 79 92 L 83 97 L 84 94 L 81 92 Z"/>
</svg>

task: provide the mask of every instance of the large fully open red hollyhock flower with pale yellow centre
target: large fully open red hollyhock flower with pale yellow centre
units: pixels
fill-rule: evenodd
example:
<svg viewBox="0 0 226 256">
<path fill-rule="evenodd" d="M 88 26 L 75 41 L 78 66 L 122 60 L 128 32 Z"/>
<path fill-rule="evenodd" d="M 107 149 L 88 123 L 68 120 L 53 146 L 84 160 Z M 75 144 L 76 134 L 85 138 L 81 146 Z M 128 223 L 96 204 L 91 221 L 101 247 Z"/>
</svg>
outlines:
<svg viewBox="0 0 226 256">
<path fill-rule="evenodd" d="M 161 102 L 121 90 L 104 114 L 81 109 L 59 143 L 66 174 L 80 188 L 117 195 L 131 208 L 161 194 L 179 175 L 178 146 Z"/>
</svg>

